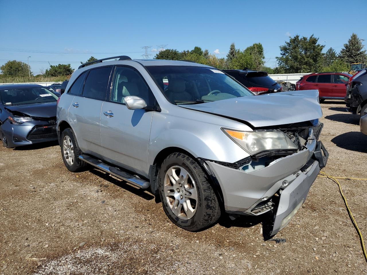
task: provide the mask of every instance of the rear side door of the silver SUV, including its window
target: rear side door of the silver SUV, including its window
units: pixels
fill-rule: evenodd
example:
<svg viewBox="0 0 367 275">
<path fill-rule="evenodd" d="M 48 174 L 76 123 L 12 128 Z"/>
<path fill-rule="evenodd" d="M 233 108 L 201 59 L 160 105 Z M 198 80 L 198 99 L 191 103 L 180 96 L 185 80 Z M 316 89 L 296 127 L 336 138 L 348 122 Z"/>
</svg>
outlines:
<svg viewBox="0 0 367 275">
<path fill-rule="evenodd" d="M 103 154 L 100 129 L 101 109 L 103 100 L 106 99 L 111 71 L 112 66 L 87 71 L 81 95 L 75 96 L 69 108 L 69 121 L 81 150 L 99 158 Z"/>
</svg>

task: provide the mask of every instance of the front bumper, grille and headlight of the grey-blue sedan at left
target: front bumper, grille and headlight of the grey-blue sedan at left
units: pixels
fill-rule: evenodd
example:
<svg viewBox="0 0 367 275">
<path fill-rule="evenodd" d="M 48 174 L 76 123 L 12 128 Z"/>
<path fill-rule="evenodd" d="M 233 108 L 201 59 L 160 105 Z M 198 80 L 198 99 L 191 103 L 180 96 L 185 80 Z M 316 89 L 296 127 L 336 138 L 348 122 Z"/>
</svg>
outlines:
<svg viewBox="0 0 367 275">
<path fill-rule="evenodd" d="M 4 147 L 57 140 L 56 117 L 35 117 L 15 110 L 7 111 L 8 115 L 0 126 Z"/>
</svg>

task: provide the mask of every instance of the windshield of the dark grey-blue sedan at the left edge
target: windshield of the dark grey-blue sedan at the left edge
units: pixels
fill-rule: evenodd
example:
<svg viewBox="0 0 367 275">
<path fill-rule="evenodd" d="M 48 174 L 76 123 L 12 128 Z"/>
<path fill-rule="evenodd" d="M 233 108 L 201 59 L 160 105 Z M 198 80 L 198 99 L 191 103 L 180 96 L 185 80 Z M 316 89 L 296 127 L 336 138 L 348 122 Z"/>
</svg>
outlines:
<svg viewBox="0 0 367 275">
<path fill-rule="evenodd" d="M 56 102 L 57 98 L 48 89 L 41 87 L 0 89 L 0 100 L 4 105 Z"/>
</svg>

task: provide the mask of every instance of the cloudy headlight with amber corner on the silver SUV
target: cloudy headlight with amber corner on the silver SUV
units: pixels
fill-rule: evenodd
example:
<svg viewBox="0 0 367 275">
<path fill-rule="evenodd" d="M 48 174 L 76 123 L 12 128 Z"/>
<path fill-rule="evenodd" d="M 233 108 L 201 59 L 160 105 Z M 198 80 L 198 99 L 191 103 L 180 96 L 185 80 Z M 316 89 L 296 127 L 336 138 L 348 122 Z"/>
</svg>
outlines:
<svg viewBox="0 0 367 275">
<path fill-rule="evenodd" d="M 250 155 L 266 150 L 297 150 L 298 147 L 280 130 L 243 132 L 222 130 Z"/>
</svg>

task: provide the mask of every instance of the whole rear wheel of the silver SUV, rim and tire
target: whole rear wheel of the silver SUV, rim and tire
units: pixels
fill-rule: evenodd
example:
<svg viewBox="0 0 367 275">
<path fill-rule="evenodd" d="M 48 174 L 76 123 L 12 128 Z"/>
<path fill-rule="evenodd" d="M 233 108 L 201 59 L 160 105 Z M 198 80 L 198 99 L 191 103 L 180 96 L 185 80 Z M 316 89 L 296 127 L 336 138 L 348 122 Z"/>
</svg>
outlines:
<svg viewBox="0 0 367 275">
<path fill-rule="evenodd" d="M 82 151 L 71 128 L 61 133 L 61 154 L 66 168 L 71 172 L 81 172 L 88 167 L 86 162 L 79 159 Z"/>
</svg>

